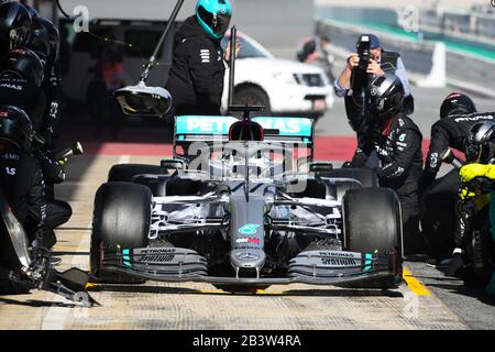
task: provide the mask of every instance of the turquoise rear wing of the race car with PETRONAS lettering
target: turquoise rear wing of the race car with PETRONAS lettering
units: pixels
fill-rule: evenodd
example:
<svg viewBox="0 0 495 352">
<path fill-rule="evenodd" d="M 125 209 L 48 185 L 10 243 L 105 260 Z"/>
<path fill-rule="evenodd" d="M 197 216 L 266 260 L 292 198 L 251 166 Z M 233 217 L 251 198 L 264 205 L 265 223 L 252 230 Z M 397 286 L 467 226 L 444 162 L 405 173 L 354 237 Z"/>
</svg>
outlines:
<svg viewBox="0 0 495 352">
<path fill-rule="evenodd" d="M 312 148 L 314 121 L 307 118 L 254 117 L 266 142 L 305 143 Z M 179 116 L 175 118 L 174 146 L 193 142 L 228 142 L 229 128 L 239 121 L 229 116 Z"/>
</svg>

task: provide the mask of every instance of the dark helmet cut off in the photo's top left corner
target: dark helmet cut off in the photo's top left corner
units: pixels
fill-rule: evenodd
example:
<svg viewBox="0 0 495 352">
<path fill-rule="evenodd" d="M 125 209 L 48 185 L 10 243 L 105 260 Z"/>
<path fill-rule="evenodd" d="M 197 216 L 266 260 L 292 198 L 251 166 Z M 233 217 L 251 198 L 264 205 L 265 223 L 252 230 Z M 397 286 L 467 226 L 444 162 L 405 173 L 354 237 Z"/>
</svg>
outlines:
<svg viewBox="0 0 495 352">
<path fill-rule="evenodd" d="M 0 53 L 24 45 L 30 38 L 31 25 L 31 14 L 22 3 L 0 3 Z"/>
</svg>

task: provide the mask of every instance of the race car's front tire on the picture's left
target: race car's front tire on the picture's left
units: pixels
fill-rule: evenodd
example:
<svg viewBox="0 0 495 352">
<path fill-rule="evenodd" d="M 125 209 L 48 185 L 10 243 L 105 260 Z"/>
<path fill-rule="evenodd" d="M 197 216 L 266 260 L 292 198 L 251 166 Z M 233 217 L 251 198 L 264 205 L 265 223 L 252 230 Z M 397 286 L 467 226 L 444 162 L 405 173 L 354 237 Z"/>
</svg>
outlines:
<svg viewBox="0 0 495 352">
<path fill-rule="evenodd" d="M 90 271 L 99 283 L 142 284 L 121 273 L 110 273 L 101 265 L 101 249 L 145 248 L 151 224 L 151 190 L 131 183 L 108 183 L 100 186 L 95 197 Z"/>
</svg>

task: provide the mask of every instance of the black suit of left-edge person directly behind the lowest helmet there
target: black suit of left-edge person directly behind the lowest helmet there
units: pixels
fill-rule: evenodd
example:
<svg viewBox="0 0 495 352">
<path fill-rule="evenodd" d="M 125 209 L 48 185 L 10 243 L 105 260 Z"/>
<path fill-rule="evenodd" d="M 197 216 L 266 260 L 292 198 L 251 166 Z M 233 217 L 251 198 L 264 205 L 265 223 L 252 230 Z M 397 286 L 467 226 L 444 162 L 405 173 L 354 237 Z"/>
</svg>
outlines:
<svg viewBox="0 0 495 352">
<path fill-rule="evenodd" d="M 31 119 L 33 128 L 37 134 L 52 135 L 52 122 L 55 110 L 47 110 L 47 99 L 45 89 L 38 88 L 24 79 L 2 77 L 0 78 L 0 105 L 14 106 L 22 110 Z M 56 114 L 56 113 L 55 113 Z M 55 119 L 55 120 L 54 120 Z M 53 146 L 54 140 L 50 138 L 50 143 L 34 146 L 35 156 L 40 161 L 43 176 L 47 187 L 48 199 L 54 199 L 53 185 L 65 180 L 65 170 L 62 165 L 54 161 Z"/>
</svg>

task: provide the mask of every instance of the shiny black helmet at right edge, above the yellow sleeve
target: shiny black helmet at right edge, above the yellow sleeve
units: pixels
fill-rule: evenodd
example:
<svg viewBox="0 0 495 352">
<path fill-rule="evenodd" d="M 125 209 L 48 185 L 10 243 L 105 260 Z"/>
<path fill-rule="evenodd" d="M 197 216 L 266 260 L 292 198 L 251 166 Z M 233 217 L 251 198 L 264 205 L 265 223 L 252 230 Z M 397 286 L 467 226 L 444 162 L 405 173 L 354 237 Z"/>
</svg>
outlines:
<svg viewBox="0 0 495 352">
<path fill-rule="evenodd" d="M 495 122 L 481 121 L 473 124 L 464 142 L 469 163 L 494 164 L 495 162 Z"/>
</svg>

